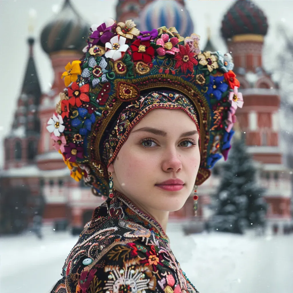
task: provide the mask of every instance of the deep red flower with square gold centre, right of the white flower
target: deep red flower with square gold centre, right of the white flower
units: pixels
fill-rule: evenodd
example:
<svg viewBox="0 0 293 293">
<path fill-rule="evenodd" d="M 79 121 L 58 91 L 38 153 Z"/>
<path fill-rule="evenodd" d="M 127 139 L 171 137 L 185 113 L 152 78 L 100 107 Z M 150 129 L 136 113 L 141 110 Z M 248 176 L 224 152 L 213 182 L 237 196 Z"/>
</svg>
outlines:
<svg viewBox="0 0 293 293">
<path fill-rule="evenodd" d="M 142 61 L 149 63 L 152 61 L 155 49 L 151 47 L 150 41 L 135 40 L 130 46 L 132 50 L 132 58 L 134 62 Z"/>
</svg>

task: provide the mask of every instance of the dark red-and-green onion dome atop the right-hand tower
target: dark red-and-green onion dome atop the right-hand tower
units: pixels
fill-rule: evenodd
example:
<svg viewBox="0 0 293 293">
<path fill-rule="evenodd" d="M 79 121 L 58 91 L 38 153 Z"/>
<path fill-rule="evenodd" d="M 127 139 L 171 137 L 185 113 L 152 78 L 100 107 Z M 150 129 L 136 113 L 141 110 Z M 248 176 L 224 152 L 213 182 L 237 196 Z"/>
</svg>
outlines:
<svg viewBox="0 0 293 293">
<path fill-rule="evenodd" d="M 266 35 L 268 21 L 263 11 L 250 0 L 237 0 L 222 20 L 222 36 L 225 39 L 235 35 Z"/>
</svg>

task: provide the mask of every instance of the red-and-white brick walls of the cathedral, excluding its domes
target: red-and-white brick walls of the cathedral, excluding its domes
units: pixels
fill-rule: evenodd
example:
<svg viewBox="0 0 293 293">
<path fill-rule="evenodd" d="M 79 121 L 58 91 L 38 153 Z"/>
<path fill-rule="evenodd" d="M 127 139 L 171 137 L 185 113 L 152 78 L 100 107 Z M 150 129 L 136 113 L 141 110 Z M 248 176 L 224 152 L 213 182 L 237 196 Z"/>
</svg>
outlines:
<svg viewBox="0 0 293 293">
<path fill-rule="evenodd" d="M 149 1 L 119 1 L 121 13 L 117 20 L 137 17 L 135 9 L 127 10 L 129 5 L 132 3 L 135 7 L 137 5 L 140 7 L 142 3 L 147 2 Z M 245 101 L 243 108 L 237 110 L 237 118 L 242 132 L 246 134 L 248 151 L 258 162 L 258 183 L 267 188 L 265 199 L 269 205 L 268 219 L 271 223 L 289 222 L 292 220 L 290 211 L 292 185 L 290 170 L 283 165 L 278 141 L 280 96 L 276 85 L 262 69 L 263 37 L 234 36 L 227 45 L 234 57 L 235 68 L 239 69 L 239 72 L 235 72 L 241 83 L 241 92 Z M 12 131 L 15 135 L 5 141 L 5 170 L 1 173 L 6 185 L 27 185 L 30 186 L 32 193 L 36 194 L 42 189 L 47 203 L 43 215 L 45 222 L 67 219 L 72 227 L 77 228 L 84 226 L 91 218 L 93 209 L 100 205 L 102 200 L 95 197 L 90 188 L 70 177 L 62 156 L 52 147 L 46 126 L 59 101 L 59 93 L 64 88 L 64 81 L 60 78 L 65 70 L 64 67 L 68 62 L 80 58 L 81 52 L 74 50 L 61 50 L 50 54 L 54 69 L 52 89 L 41 96 L 38 108 L 32 106 L 30 109 L 32 113 L 38 111 L 40 137 L 26 137 L 21 125 L 18 125 L 19 127 Z M 25 97 L 22 98 L 21 95 L 16 110 L 19 117 L 21 117 L 21 113 L 18 112 L 22 109 L 22 99 Z M 18 121 L 21 122 L 21 118 L 18 118 Z M 37 139 L 38 155 L 33 161 L 28 162 L 23 158 L 27 158 L 30 139 Z M 11 151 L 14 150 L 18 140 L 21 140 L 21 159 L 16 159 L 14 151 Z M 209 217 L 206 206 L 210 203 L 210 196 L 216 192 L 219 181 L 219 176 L 213 173 L 198 188 L 200 195 L 198 216 L 203 219 Z M 190 219 L 193 214 L 191 195 L 182 209 L 170 213 L 170 218 Z"/>
</svg>

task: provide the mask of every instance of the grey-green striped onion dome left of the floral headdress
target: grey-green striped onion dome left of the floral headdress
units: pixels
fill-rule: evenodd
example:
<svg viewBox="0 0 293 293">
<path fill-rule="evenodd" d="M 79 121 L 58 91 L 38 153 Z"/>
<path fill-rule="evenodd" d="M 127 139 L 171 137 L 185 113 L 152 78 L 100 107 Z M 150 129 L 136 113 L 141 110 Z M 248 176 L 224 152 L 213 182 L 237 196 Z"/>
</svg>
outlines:
<svg viewBox="0 0 293 293">
<path fill-rule="evenodd" d="M 69 0 L 41 33 L 43 50 L 50 54 L 61 50 L 77 50 L 82 53 L 90 26 L 81 19 Z"/>
</svg>

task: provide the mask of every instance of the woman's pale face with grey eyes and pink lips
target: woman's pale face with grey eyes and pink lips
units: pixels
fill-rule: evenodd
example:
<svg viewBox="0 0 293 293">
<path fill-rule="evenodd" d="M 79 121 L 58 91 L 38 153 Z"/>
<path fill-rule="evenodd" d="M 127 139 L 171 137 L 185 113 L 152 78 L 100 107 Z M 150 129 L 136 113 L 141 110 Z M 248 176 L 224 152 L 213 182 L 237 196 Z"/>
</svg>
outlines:
<svg viewBox="0 0 293 293">
<path fill-rule="evenodd" d="M 132 128 L 108 170 L 114 188 L 130 200 L 171 212 L 192 193 L 199 164 L 193 120 L 183 110 L 154 109 Z"/>
</svg>

